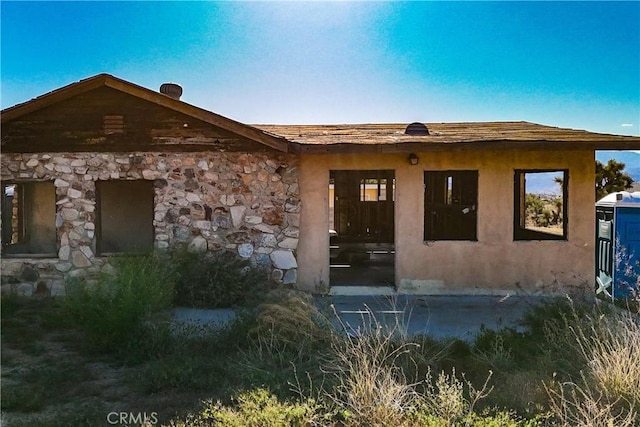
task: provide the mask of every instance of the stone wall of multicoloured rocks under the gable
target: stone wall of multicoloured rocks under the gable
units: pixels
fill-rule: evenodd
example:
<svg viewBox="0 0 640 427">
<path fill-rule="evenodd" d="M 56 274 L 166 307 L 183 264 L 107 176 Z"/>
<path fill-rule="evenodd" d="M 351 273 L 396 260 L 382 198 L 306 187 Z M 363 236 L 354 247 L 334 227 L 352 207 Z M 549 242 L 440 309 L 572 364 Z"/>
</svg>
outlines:
<svg viewBox="0 0 640 427">
<path fill-rule="evenodd" d="M 64 279 L 110 266 L 96 248 L 96 182 L 154 183 L 154 245 L 226 249 L 295 284 L 300 222 L 299 159 L 248 153 L 3 154 L 3 181 L 52 181 L 58 257 L 3 257 L 2 289 L 64 294 Z"/>
</svg>

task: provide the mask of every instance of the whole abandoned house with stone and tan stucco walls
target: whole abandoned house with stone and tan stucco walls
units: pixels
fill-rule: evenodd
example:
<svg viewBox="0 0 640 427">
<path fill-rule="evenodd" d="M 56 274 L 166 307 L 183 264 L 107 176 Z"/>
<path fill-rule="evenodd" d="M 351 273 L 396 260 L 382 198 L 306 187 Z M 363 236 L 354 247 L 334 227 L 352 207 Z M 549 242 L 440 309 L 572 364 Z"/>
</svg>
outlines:
<svg viewBox="0 0 640 427">
<path fill-rule="evenodd" d="M 640 149 L 527 122 L 250 126 L 161 90 L 100 74 L 2 111 L 4 287 L 182 244 L 311 292 L 591 290 L 594 150 Z"/>
</svg>

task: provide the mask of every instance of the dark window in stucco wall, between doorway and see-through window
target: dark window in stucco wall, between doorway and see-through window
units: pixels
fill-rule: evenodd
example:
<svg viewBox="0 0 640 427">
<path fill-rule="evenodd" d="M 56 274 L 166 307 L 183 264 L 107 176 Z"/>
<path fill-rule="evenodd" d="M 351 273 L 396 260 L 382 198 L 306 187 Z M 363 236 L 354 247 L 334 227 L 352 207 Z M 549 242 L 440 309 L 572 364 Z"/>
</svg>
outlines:
<svg viewBox="0 0 640 427">
<path fill-rule="evenodd" d="M 424 173 L 424 240 L 477 240 L 478 171 Z"/>
</svg>

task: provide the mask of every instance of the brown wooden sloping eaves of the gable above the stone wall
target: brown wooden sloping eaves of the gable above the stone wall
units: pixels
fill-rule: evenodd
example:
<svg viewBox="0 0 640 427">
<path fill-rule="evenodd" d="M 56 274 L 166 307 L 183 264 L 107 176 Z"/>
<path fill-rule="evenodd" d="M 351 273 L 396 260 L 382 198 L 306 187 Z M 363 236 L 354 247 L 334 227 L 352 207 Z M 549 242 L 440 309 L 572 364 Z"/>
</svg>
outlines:
<svg viewBox="0 0 640 427">
<path fill-rule="evenodd" d="M 265 133 L 260 129 L 223 117 L 219 114 L 196 107 L 184 101 L 171 98 L 160 92 L 138 86 L 110 74 L 98 74 L 96 76 L 80 80 L 79 82 L 71 83 L 21 104 L 14 105 L 13 107 L 6 108 L 2 110 L 0 114 L 1 123 L 4 124 L 25 114 L 32 113 L 100 87 L 116 89 L 162 107 L 175 110 L 211 125 L 218 126 L 236 135 L 248 138 L 271 148 L 275 148 L 279 151 L 288 152 L 290 150 L 291 144 L 282 137 Z"/>
</svg>

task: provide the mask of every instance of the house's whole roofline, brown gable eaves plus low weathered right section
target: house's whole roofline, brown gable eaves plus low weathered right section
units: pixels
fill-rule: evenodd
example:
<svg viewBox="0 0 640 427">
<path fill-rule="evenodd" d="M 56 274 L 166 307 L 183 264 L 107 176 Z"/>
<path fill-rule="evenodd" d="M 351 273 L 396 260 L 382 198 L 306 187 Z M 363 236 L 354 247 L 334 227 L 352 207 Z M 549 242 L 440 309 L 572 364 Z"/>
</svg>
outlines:
<svg viewBox="0 0 640 427">
<path fill-rule="evenodd" d="M 289 153 L 404 153 L 436 150 L 640 149 L 640 137 L 530 122 L 425 123 L 430 135 L 406 135 L 406 124 L 246 125 L 109 74 L 72 83 L 1 112 L 4 124 L 73 96 L 110 87 Z"/>
</svg>

